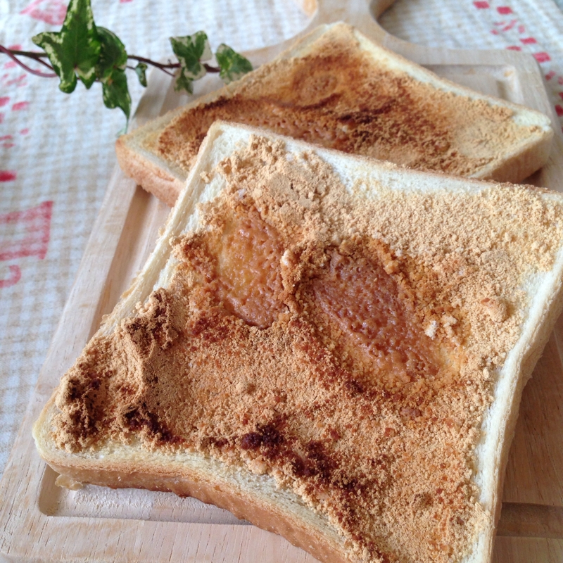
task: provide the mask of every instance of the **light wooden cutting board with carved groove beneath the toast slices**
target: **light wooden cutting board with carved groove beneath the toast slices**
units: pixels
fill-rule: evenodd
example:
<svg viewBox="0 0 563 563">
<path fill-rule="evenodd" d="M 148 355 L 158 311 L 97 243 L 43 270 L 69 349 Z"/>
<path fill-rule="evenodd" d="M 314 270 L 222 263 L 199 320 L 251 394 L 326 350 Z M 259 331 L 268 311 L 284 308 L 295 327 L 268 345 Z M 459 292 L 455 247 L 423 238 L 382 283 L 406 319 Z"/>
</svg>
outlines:
<svg viewBox="0 0 563 563">
<path fill-rule="evenodd" d="M 448 51 L 391 37 L 374 19 L 392 0 L 305 0 L 320 23 L 344 20 L 393 51 L 438 75 L 551 115 L 556 131 L 551 158 L 529 183 L 563 190 L 563 139 L 536 61 L 514 51 Z M 372 17 L 373 16 L 373 17 Z M 246 53 L 258 65 L 284 44 Z M 220 86 L 216 77 L 198 94 Z M 153 73 L 137 125 L 187 101 L 170 78 Z M 135 124 L 133 125 L 135 126 Z M 87 486 L 58 488 L 56 474 L 35 452 L 31 426 L 63 372 L 74 362 L 140 269 L 169 209 L 116 167 L 84 253 L 75 285 L 0 482 L 0 562 L 286 562 L 313 563 L 286 540 L 231 514 L 168 493 Z M 563 319 L 526 386 L 507 468 L 495 548 L 496 562 L 563 560 Z M 512 537 L 511 537 L 512 536 Z M 524 537 L 526 536 L 526 537 Z"/>
</svg>

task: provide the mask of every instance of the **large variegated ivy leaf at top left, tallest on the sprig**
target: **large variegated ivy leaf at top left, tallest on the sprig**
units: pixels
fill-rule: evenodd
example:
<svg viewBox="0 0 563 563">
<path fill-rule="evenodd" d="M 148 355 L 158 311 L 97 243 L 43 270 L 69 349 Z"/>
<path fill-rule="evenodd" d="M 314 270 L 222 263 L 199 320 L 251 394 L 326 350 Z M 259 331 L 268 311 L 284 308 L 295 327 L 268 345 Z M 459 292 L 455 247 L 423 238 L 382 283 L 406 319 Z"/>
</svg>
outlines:
<svg viewBox="0 0 563 563">
<path fill-rule="evenodd" d="M 70 0 L 61 31 L 39 33 L 32 41 L 49 56 L 63 92 L 75 89 L 77 75 L 87 88 L 96 80 L 100 41 L 90 0 Z"/>
</svg>

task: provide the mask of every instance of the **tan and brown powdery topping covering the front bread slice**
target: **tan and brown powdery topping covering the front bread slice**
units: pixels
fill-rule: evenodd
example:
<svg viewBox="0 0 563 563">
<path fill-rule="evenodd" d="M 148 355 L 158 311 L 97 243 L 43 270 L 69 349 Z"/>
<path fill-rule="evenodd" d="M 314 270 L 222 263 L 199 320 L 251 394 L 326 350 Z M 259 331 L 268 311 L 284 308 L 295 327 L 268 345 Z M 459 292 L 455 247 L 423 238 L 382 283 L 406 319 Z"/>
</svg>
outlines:
<svg viewBox="0 0 563 563">
<path fill-rule="evenodd" d="M 65 374 L 58 445 L 193 450 L 272 476 L 358 559 L 459 560 L 491 517 L 475 446 L 561 209 L 501 184 L 347 189 L 257 137 L 215 175 L 167 284 Z"/>
</svg>

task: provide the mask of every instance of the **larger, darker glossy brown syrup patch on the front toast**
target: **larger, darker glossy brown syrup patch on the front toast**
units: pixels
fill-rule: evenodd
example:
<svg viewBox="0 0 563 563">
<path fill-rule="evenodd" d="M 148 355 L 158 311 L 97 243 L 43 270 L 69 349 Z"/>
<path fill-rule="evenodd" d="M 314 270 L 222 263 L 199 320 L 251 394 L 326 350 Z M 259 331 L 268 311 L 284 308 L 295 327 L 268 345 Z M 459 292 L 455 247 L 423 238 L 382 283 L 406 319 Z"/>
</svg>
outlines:
<svg viewBox="0 0 563 563">
<path fill-rule="evenodd" d="M 311 282 L 315 308 L 341 331 L 340 343 L 363 356 L 374 377 L 398 389 L 438 372 L 436 344 L 424 334 L 412 300 L 388 274 L 377 253 L 329 251 Z M 403 295 L 402 295 L 403 294 Z"/>
</svg>

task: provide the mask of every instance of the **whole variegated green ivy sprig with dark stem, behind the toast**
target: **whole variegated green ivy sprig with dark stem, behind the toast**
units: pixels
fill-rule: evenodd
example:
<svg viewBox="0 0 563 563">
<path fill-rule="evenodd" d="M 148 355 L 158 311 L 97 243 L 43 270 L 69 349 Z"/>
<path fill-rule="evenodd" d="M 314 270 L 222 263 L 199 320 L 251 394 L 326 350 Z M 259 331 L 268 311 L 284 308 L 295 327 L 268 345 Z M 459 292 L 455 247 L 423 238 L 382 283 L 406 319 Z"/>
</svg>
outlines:
<svg viewBox="0 0 563 563">
<path fill-rule="evenodd" d="M 105 27 L 97 26 L 90 0 L 70 0 L 63 27 L 58 32 L 43 32 L 32 37 L 43 52 L 16 51 L 0 45 L 6 53 L 28 72 L 42 77 L 58 76 L 59 89 L 70 94 L 80 80 L 89 89 L 101 82 L 103 103 L 107 108 L 120 108 L 127 120 L 131 113 L 131 96 L 127 87 L 126 70 L 134 70 L 139 83 L 146 87 L 146 70 L 154 66 L 176 77 L 175 89 L 194 93 L 194 81 L 207 72 L 218 72 L 225 83 L 237 80 L 252 70 L 247 58 L 231 47 L 220 44 L 215 52 L 214 66 L 208 37 L 203 31 L 184 37 L 170 37 L 177 62 L 158 63 L 148 58 L 129 55 L 120 38 Z M 53 72 L 42 72 L 25 65 L 18 57 L 31 58 Z M 48 59 L 47 63 L 44 59 Z M 136 61 L 137 65 L 128 65 Z"/>
</svg>

